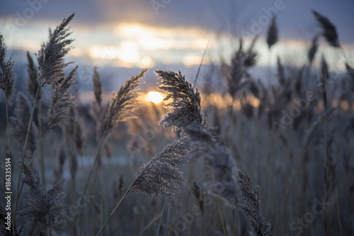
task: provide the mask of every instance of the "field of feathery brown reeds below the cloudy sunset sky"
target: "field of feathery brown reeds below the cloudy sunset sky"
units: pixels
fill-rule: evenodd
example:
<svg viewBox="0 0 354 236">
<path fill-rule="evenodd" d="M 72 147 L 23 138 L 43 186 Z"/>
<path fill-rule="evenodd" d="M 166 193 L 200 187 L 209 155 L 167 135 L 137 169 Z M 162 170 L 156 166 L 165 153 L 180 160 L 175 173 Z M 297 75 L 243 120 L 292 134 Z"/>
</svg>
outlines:
<svg viewBox="0 0 354 236">
<path fill-rule="evenodd" d="M 93 99 L 79 102 L 74 15 L 28 53 L 27 91 L 13 89 L 0 35 L 1 233 L 354 235 L 354 69 L 336 26 L 313 13 L 321 33 L 302 67 L 274 55 L 278 67 L 253 78 L 259 39 L 239 39 L 203 76 L 155 71 L 163 103 L 139 89 L 148 69 L 108 94 L 96 68 Z M 278 40 L 274 17 L 269 50 Z"/>
</svg>

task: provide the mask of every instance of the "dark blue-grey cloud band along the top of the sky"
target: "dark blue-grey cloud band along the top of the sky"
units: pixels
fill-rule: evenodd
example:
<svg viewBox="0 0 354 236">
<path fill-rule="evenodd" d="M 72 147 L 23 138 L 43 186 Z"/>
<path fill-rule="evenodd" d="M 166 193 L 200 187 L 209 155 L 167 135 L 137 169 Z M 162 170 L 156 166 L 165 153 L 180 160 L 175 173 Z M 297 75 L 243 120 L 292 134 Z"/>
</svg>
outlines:
<svg viewBox="0 0 354 236">
<path fill-rule="evenodd" d="M 62 21 L 62 18 L 75 12 L 73 23 L 84 23 L 87 26 L 130 22 L 157 27 L 197 27 L 239 35 L 241 30 L 251 32 L 253 20 L 258 22 L 262 16 L 267 15 L 264 9 L 274 8 L 278 1 L 280 0 L 2 0 L 0 21 L 1 17 L 17 17 L 18 14 L 25 16 L 28 14 L 26 9 L 32 8 L 36 11 L 34 20 Z M 277 11 L 280 39 L 312 38 L 314 30 L 318 30 L 311 13 L 315 9 L 329 17 L 337 26 L 343 43 L 354 43 L 354 1 L 285 0 L 282 1 L 282 6 L 284 8 Z M 260 35 L 265 35 L 266 28 L 267 26 L 263 27 Z"/>
</svg>

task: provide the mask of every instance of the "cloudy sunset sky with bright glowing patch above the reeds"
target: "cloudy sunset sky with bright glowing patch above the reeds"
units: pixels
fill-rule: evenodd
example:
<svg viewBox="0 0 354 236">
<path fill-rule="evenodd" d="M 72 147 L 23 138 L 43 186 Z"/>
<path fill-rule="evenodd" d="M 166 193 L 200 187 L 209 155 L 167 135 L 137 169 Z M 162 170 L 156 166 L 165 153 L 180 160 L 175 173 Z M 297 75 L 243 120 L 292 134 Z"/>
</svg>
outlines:
<svg viewBox="0 0 354 236">
<path fill-rule="evenodd" d="M 352 0 L 0 0 L 0 32 L 9 50 L 35 53 L 47 40 L 48 29 L 75 13 L 69 58 L 77 64 L 188 69 L 200 64 L 206 47 L 203 64 L 220 62 L 229 60 L 240 36 L 246 44 L 258 36 L 258 64 L 275 64 L 275 55 L 280 55 L 285 63 L 301 65 L 320 31 L 312 9 L 336 26 L 354 64 Z M 265 35 L 273 14 L 280 41 L 270 54 Z M 333 67 L 343 69 L 338 62 L 343 54 L 324 40 L 322 49 Z"/>
</svg>

